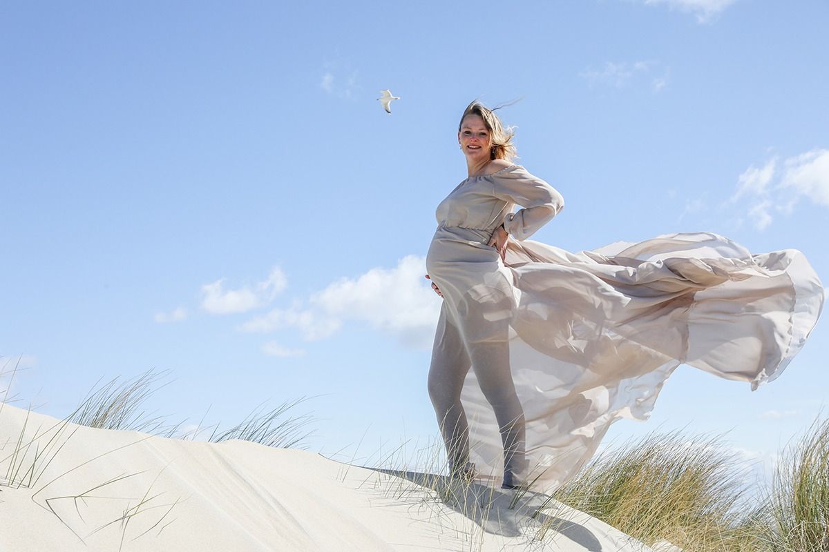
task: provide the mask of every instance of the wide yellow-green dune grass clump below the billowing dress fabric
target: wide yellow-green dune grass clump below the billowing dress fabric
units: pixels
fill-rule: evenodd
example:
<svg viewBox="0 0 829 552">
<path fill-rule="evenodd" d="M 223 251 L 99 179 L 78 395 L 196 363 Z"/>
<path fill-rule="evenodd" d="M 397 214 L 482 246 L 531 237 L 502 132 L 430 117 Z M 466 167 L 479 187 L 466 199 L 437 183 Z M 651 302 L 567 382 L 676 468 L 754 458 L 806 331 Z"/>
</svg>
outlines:
<svg viewBox="0 0 829 552">
<path fill-rule="evenodd" d="M 746 511 L 744 463 L 722 437 L 652 432 L 597 455 L 552 498 L 647 545 L 764 550 Z"/>
</svg>

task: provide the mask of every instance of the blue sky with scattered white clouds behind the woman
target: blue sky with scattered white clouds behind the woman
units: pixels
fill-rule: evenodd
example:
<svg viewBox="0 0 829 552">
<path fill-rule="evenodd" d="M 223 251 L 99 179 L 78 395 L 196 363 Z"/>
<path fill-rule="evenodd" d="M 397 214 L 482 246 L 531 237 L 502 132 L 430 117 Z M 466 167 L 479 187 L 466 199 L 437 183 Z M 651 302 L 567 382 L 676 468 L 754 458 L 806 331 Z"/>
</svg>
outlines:
<svg viewBox="0 0 829 552">
<path fill-rule="evenodd" d="M 13 404 L 67 415 L 155 368 L 172 381 L 148 408 L 171 421 L 317 396 L 297 410 L 314 450 L 434 439 L 424 255 L 473 98 L 520 98 L 498 112 L 517 162 L 565 197 L 532 239 L 710 231 L 799 249 L 827 284 L 827 21 L 817 0 L 6 4 Z M 755 392 L 680 367 L 608 439 L 730 431 L 770 464 L 823 404 L 827 332 Z"/>
</svg>

